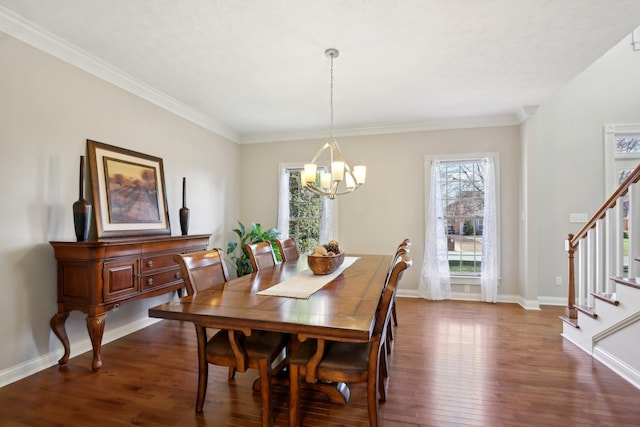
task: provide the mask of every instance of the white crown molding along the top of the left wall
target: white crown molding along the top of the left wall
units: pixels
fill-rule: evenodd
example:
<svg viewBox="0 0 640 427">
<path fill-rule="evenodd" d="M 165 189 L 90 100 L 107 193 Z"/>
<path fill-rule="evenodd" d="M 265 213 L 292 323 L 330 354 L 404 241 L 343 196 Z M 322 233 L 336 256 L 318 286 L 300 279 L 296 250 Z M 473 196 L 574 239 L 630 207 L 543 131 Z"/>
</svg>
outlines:
<svg viewBox="0 0 640 427">
<path fill-rule="evenodd" d="M 33 22 L 27 21 L 3 6 L 0 6 L 0 31 L 233 142 L 240 140 L 236 132 L 221 123 L 141 82 L 89 52 L 68 43 Z"/>
</svg>

